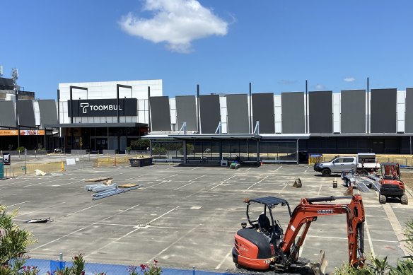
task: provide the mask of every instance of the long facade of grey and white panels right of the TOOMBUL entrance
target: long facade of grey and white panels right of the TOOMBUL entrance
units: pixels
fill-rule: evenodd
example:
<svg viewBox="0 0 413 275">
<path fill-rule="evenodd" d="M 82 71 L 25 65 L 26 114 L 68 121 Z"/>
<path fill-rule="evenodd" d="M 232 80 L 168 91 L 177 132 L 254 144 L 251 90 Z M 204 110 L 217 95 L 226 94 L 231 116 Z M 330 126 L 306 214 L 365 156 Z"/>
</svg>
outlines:
<svg viewBox="0 0 413 275">
<path fill-rule="evenodd" d="M 158 158 L 184 162 L 298 161 L 301 152 L 411 154 L 412 104 L 413 88 L 151 98 L 156 116 L 145 139 Z M 170 150 L 177 142 L 183 148 Z"/>
</svg>

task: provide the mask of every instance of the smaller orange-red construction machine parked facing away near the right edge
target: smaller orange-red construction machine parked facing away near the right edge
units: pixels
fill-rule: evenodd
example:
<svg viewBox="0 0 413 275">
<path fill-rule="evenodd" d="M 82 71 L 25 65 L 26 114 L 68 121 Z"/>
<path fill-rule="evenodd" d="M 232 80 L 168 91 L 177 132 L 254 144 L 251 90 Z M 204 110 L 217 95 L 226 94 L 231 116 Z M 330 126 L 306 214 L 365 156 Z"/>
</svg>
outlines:
<svg viewBox="0 0 413 275">
<path fill-rule="evenodd" d="M 388 197 L 398 198 L 402 204 L 408 204 L 405 183 L 400 179 L 398 163 L 381 163 L 380 193 L 378 201 L 385 204 Z"/>
</svg>

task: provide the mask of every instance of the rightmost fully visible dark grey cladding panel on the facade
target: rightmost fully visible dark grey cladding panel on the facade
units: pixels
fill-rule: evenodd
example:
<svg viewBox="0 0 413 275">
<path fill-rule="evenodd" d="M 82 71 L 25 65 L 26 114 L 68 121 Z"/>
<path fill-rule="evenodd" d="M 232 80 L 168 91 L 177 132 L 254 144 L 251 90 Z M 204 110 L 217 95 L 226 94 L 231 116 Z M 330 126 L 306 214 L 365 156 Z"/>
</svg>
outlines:
<svg viewBox="0 0 413 275">
<path fill-rule="evenodd" d="M 371 132 L 395 133 L 397 131 L 397 89 L 371 90 Z"/>
</svg>

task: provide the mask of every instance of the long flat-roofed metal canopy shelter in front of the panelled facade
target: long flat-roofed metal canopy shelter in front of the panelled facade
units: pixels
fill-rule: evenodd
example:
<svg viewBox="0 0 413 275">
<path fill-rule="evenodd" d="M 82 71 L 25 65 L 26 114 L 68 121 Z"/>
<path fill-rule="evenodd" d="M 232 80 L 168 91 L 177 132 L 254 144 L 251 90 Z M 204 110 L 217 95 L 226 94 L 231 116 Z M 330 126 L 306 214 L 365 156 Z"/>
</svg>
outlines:
<svg viewBox="0 0 413 275">
<path fill-rule="evenodd" d="M 151 141 L 154 160 L 218 165 L 221 160 L 298 163 L 298 139 L 308 135 L 151 133 L 142 139 Z"/>
</svg>

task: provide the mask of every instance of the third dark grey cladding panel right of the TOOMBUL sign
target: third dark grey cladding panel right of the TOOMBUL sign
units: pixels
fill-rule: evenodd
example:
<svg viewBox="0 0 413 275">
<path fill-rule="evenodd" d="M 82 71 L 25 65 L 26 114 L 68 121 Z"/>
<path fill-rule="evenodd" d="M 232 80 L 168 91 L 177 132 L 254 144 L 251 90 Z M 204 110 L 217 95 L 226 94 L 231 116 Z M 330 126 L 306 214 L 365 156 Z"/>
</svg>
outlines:
<svg viewBox="0 0 413 275">
<path fill-rule="evenodd" d="M 219 95 L 199 95 L 202 134 L 214 134 L 221 121 Z"/>
</svg>

